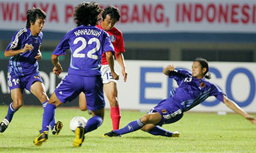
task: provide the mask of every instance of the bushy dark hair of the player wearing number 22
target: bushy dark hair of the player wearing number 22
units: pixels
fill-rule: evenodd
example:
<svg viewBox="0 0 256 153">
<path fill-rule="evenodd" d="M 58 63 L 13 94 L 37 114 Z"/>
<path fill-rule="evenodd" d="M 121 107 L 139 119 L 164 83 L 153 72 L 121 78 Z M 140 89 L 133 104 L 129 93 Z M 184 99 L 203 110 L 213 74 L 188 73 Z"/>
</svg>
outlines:
<svg viewBox="0 0 256 153">
<path fill-rule="evenodd" d="M 77 26 L 96 25 L 101 19 L 99 14 L 102 12 L 99 4 L 96 2 L 82 2 L 75 7 L 73 19 Z"/>
</svg>

